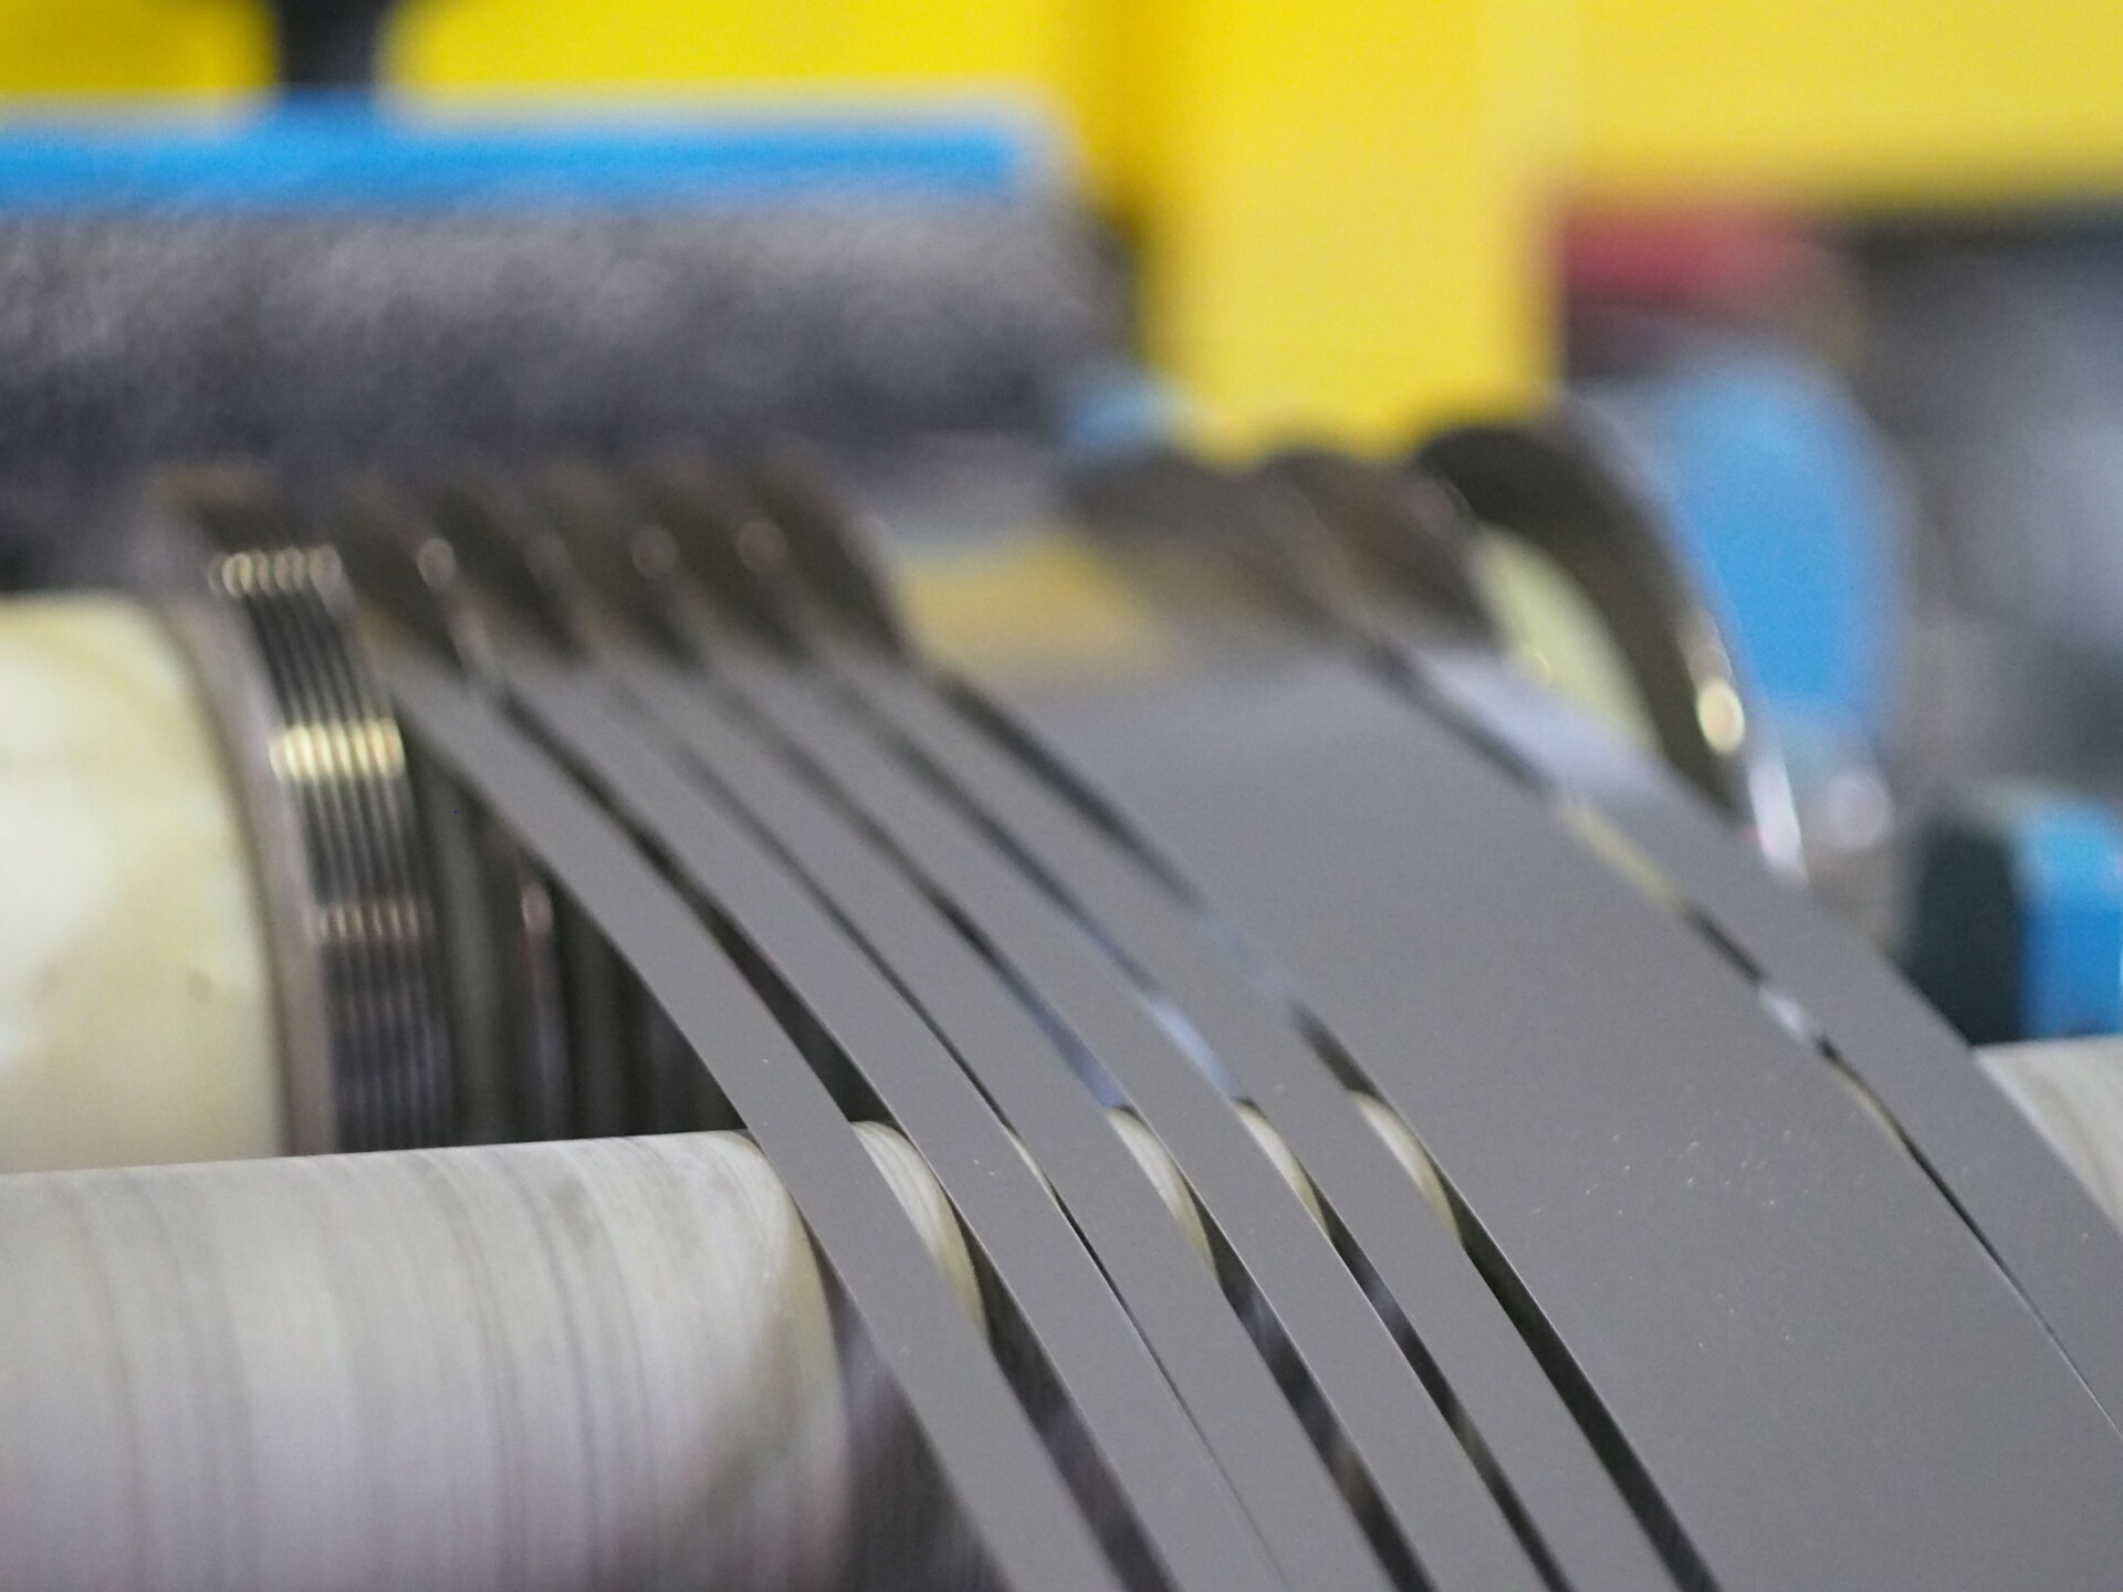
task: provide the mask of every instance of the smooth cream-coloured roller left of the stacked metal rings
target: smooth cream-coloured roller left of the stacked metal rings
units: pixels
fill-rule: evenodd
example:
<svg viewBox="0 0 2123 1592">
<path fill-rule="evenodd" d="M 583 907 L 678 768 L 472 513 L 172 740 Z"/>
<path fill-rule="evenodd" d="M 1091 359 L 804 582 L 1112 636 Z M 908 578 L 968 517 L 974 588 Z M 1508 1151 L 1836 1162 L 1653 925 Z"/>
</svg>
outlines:
<svg viewBox="0 0 2123 1592">
<path fill-rule="evenodd" d="M 278 1153 L 267 940 L 176 641 L 121 599 L 0 605 L 0 1172 Z"/>
</svg>

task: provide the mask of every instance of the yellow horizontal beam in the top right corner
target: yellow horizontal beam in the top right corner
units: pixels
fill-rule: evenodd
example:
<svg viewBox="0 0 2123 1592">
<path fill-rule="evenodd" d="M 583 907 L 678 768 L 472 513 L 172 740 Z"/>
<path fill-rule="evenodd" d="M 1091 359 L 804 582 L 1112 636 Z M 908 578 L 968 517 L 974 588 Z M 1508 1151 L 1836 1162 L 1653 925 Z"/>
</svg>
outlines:
<svg viewBox="0 0 2123 1592">
<path fill-rule="evenodd" d="M 2123 191 L 2115 0 L 1577 0 L 1596 197 Z"/>
</svg>

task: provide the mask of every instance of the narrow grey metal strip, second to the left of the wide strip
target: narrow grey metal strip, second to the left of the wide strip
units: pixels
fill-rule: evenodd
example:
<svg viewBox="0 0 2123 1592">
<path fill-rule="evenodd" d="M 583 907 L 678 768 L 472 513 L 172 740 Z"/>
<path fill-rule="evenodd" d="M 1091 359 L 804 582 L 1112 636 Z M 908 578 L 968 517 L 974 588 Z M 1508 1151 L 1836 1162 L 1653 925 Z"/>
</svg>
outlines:
<svg viewBox="0 0 2123 1592">
<path fill-rule="evenodd" d="M 745 683 L 1127 1093 L 1282 1325 L 1431 1586 L 1535 1588 L 1497 1501 L 1327 1233 L 1138 991 L 847 715 L 794 677 L 762 671 Z"/>
</svg>

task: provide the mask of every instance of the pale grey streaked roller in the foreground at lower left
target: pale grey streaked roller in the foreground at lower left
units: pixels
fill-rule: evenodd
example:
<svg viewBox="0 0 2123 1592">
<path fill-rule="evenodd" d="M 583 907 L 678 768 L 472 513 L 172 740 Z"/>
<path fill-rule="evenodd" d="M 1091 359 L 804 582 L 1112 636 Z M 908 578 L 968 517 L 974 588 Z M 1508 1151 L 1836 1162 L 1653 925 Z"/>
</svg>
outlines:
<svg viewBox="0 0 2123 1592">
<path fill-rule="evenodd" d="M 6 1588 L 862 1586 L 919 1473 L 735 1134 L 0 1178 L 0 1276 Z"/>
</svg>

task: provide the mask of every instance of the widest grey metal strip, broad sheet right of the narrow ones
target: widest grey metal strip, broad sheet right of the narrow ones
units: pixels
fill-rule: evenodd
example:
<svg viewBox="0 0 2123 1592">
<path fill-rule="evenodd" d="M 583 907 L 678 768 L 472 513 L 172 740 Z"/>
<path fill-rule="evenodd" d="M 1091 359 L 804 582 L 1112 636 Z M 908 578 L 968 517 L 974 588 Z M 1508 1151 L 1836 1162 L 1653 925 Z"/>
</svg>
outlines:
<svg viewBox="0 0 2123 1592">
<path fill-rule="evenodd" d="M 2115 1429 L 1817 1057 L 1439 726 L 1261 652 L 1093 698 L 985 688 L 1301 983 L 1707 1575 L 2112 1586 Z"/>
</svg>

